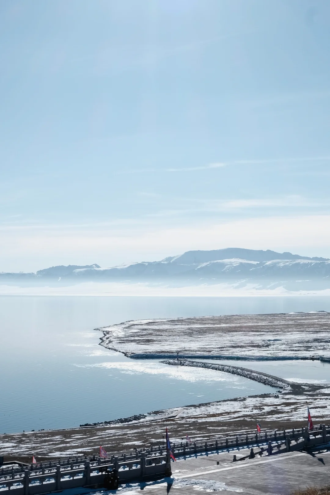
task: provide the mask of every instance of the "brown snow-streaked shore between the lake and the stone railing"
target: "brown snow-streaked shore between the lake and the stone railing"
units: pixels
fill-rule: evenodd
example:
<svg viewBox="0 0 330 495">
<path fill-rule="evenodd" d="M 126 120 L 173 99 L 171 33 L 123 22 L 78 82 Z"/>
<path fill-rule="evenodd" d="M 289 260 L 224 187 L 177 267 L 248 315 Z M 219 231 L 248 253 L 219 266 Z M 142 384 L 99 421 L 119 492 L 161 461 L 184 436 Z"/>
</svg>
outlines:
<svg viewBox="0 0 330 495">
<path fill-rule="evenodd" d="M 0 454 L 12 457 L 37 455 L 40 459 L 97 453 L 99 446 L 109 452 L 131 451 L 134 447 L 160 445 L 165 427 L 171 440 L 181 442 L 188 434 L 192 441 L 220 438 L 248 430 L 255 432 L 256 421 L 263 429 L 306 426 L 307 405 L 314 423 L 330 419 L 330 389 L 304 386 L 301 395 L 291 392 L 241 397 L 190 405 L 149 414 L 126 424 L 41 431 L 0 436 Z M 22 459 L 23 460 L 23 459 Z"/>
</svg>

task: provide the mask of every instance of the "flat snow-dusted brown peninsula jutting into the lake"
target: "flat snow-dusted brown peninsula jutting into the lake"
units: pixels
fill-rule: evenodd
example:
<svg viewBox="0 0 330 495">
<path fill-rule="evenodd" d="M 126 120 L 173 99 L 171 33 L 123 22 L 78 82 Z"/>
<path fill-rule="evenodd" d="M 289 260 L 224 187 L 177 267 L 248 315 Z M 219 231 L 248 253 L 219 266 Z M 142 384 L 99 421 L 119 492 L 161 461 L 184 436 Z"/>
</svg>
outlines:
<svg viewBox="0 0 330 495">
<path fill-rule="evenodd" d="M 330 313 L 127 321 L 100 328 L 103 345 L 133 354 L 330 357 Z"/>
</svg>

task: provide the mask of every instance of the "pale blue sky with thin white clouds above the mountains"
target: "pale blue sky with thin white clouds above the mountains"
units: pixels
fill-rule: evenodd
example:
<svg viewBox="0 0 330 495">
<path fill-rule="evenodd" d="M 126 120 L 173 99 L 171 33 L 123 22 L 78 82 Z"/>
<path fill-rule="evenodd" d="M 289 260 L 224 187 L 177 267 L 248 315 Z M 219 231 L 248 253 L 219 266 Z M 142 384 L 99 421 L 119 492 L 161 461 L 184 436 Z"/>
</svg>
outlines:
<svg viewBox="0 0 330 495">
<path fill-rule="evenodd" d="M 329 52 L 329 1 L 2 1 L 0 270 L 330 257 Z"/>
</svg>

